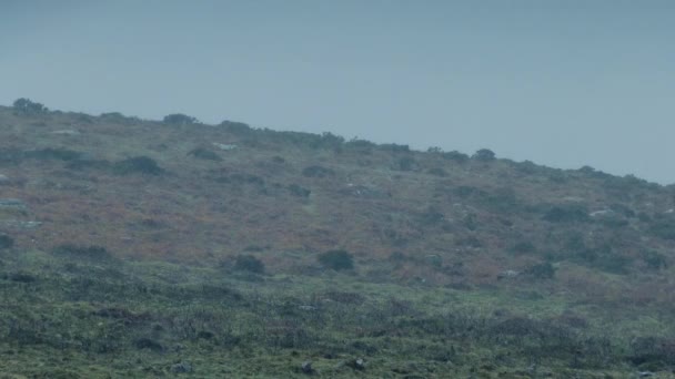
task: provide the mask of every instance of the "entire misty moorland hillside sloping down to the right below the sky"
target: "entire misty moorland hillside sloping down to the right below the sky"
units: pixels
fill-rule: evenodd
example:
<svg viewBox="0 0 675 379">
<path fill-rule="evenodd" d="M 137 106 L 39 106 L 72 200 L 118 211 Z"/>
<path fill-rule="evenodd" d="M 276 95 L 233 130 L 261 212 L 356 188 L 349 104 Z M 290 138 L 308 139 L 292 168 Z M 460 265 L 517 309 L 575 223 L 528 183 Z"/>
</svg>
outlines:
<svg viewBox="0 0 675 379">
<path fill-rule="evenodd" d="M 18 102 L 0 371 L 668 377 L 674 209 L 672 186 L 487 150 Z"/>
</svg>

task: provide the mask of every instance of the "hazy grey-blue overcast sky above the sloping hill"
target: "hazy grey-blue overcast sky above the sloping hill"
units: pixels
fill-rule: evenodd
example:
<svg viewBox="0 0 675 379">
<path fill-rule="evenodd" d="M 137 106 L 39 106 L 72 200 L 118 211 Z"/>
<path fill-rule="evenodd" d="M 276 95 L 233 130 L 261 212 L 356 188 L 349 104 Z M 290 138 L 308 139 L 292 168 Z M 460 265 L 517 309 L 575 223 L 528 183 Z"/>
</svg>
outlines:
<svg viewBox="0 0 675 379">
<path fill-rule="evenodd" d="M 675 183 L 675 1 L 0 0 L 0 104 Z"/>
</svg>

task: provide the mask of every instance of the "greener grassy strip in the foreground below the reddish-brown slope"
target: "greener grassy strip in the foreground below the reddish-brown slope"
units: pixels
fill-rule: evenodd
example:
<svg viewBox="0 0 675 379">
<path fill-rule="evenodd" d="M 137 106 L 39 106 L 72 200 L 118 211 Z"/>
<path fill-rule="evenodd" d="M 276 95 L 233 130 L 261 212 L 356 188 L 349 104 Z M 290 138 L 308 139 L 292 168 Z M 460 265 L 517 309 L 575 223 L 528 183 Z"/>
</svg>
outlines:
<svg viewBox="0 0 675 379">
<path fill-rule="evenodd" d="M 675 358 L 667 317 L 565 295 L 0 257 L 1 378 L 667 378 Z"/>
</svg>

